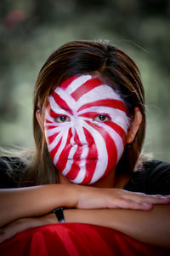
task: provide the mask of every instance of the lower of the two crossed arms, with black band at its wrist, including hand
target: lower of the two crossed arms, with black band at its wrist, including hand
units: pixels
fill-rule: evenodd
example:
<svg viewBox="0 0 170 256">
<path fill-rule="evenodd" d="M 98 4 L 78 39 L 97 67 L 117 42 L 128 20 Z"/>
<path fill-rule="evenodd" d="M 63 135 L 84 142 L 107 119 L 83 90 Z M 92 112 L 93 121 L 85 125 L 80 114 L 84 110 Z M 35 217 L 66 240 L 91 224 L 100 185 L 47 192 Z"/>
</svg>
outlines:
<svg viewBox="0 0 170 256">
<path fill-rule="evenodd" d="M 65 221 L 97 224 L 118 230 L 150 245 L 170 248 L 170 205 L 156 205 L 150 211 L 131 209 L 66 209 Z M 22 230 L 44 224 L 56 224 L 54 213 L 39 218 L 20 218 L 0 232 L 0 243 Z"/>
</svg>

